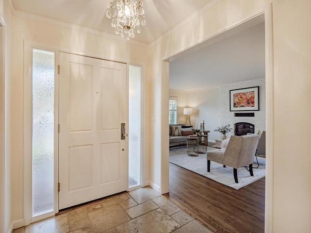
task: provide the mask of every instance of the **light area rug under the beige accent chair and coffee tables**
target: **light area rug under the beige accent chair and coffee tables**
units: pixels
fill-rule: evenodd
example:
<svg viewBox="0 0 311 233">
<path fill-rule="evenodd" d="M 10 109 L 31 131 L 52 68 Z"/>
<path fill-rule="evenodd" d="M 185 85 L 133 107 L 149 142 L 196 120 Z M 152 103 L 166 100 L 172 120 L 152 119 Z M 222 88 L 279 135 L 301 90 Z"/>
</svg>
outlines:
<svg viewBox="0 0 311 233">
<path fill-rule="evenodd" d="M 209 150 L 218 150 L 212 147 L 207 147 Z M 199 154 L 198 157 L 190 157 L 187 155 L 187 147 L 178 147 L 170 149 L 170 163 L 186 168 L 197 174 L 205 176 L 218 183 L 225 184 L 236 190 L 245 187 L 263 177 L 266 174 L 266 160 L 258 157 L 259 168 L 253 168 L 254 176 L 251 176 L 246 167 L 238 168 L 239 183 L 235 183 L 233 177 L 233 168 L 216 162 L 210 162 L 210 172 L 207 172 L 206 154 Z M 253 167 L 257 167 L 256 158 L 254 159 Z"/>
</svg>

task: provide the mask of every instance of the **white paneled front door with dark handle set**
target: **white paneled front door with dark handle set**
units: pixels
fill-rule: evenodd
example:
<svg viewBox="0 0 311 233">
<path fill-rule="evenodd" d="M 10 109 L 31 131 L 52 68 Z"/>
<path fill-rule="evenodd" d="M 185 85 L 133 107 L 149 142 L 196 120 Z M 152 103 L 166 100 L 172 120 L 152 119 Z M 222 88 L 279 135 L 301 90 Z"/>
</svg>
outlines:
<svg viewBox="0 0 311 233">
<path fill-rule="evenodd" d="M 128 189 L 126 65 L 60 52 L 59 209 Z"/>
</svg>

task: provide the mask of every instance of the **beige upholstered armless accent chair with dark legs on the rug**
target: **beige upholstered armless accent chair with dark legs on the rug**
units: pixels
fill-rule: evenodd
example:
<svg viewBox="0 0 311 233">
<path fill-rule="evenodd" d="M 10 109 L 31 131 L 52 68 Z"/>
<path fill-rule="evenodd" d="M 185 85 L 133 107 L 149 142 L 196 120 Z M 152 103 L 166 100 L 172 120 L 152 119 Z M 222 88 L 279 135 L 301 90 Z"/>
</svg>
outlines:
<svg viewBox="0 0 311 233">
<path fill-rule="evenodd" d="M 232 135 L 225 149 L 207 151 L 207 172 L 210 172 L 210 161 L 225 166 L 233 167 L 233 176 L 238 182 L 238 168 L 249 166 L 251 176 L 253 174 L 253 162 L 259 140 L 259 134 L 243 136 Z"/>
</svg>

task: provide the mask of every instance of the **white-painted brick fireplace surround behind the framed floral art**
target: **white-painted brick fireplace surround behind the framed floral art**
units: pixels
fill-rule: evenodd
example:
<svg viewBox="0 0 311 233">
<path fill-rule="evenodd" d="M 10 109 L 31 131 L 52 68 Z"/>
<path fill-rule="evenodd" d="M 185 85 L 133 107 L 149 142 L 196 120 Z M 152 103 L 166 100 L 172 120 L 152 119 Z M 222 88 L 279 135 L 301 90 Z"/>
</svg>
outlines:
<svg viewBox="0 0 311 233">
<path fill-rule="evenodd" d="M 259 86 L 259 111 L 245 111 L 244 113 L 254 113 L 255 116 L 250 117 L 238 117 L 234 116 L 234 113 L 243 113 L 242 111 L 238 112 L 230 112 L 230 97 L 229 97 L 229 91 L 240 89 L 240 88 L 248 88 L 253 86 Z M 224 86 L 221 86 L 220 89 L 220 122 L 221 125 L 230 124 L 231 128 L 234 128 L 234 124 L 238 122 L 246 122 L 251 123 L 255 125 L 255 133 L 257 133 L 258 130 L 260 132 L 266 130 L 266 88 L 265 88 L 265 79 L 255 79 L 255 80 L 249 80 L 239 83 L 232 83 L 227 84 Z M 230 135 L 234 135 L 234 130 L 232 130 L 230 133 L 227 133 L 227 137 Z"/>
</svg>

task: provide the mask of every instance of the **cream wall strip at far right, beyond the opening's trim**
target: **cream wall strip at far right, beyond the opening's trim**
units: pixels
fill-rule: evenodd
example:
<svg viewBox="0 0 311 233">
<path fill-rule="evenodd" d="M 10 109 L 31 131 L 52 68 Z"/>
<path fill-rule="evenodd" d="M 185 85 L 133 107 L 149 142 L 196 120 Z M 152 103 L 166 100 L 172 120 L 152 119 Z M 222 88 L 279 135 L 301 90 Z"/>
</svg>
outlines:
<svg viewBox="0 0 311 233">
<path fill-rule="evenodd" d="M 311 1 L 273 8 L 273 232 L 311 232 Z"/>
</svg>

